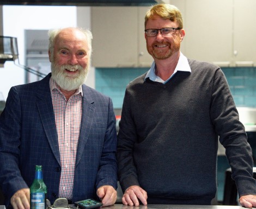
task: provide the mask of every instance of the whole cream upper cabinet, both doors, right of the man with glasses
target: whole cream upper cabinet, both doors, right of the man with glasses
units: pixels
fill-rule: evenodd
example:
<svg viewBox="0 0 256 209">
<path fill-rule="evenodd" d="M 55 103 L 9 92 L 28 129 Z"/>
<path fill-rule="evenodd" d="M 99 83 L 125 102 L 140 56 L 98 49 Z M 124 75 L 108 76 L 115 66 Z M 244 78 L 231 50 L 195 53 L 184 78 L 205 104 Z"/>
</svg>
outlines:
<svg viewBox="0 0 256 209">
<path fill-rule="evenodd" d="M 256 1 L 185 0 L 184 54 L 219 66 L 256 66 Z"/>
</svg>

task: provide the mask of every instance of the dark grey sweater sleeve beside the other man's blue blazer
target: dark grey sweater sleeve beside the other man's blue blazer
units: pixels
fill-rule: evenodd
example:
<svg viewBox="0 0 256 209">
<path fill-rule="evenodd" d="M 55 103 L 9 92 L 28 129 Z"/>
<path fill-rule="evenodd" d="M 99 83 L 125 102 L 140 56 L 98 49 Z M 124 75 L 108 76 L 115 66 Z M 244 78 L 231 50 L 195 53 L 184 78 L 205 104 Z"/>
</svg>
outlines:
<svg viewBox="0 0 256 209">
<path fill-rule="evenodd" d="M 117 147 L 118 177 L 123 192 L 130 186 L 139 186 L 137 169 L 133 160 L 133 147 L 137 140 L 137 134 L 130 110 L 130 99 L 126 89 L 119 122 Z"/>
</svg>

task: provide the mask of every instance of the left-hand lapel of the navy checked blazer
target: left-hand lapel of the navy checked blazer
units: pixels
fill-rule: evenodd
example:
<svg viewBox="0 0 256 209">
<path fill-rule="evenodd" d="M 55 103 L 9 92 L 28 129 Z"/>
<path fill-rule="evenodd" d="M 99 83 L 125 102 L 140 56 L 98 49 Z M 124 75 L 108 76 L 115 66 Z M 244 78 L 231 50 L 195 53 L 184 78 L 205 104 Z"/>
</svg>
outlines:
<svg viewBox="0 0 256 209">
<path fill-rule="evenodd" d="M 41 117 L 42 125 L 44 126 L 45 134 L 52 148 L 52 152 L 56 157 L 59 165 L 61 165 L 58 134 L 57 134 L 54 111 L 52 106 L 51 91 L 50 91 L 50 85 L 49 85 L 50 77 L 51 77 L 51 73 L 48 74 L 47 77 L 39 81 L 38 92 L 37 92 L 38 99 L 36 100 L 36 105 L 38 106 L 38 111 Z"/>
</svg>

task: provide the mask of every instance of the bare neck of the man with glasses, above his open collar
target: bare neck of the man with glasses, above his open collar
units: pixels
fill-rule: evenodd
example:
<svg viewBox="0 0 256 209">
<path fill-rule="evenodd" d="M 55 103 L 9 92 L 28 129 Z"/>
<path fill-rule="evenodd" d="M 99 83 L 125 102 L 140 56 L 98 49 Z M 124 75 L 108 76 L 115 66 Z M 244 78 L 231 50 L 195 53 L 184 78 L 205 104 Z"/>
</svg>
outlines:
<svg viewBox="0 0 256 209">
<path fill-rule="evenodd" d="M 180 52 L 177 52 L 165 60 L 157 60 L 156 63 L 156 75 L 166 81 L 174 73 L 174 70 L 178 64 Z"/>
</svg>

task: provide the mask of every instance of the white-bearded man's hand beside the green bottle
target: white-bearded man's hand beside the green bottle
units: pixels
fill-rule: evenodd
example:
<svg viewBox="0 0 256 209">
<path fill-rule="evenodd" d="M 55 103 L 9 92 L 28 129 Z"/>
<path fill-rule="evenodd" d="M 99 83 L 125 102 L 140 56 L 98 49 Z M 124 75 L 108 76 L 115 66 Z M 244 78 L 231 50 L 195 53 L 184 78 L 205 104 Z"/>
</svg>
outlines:
<svg viewBox="0 0 256 209">
<path fill-rule="evenodd" d="M 30 192 L 29 188 L 18 190 L 11 197 L 11 205 L 14 209 L 30 209 Z"/>
</svg>

